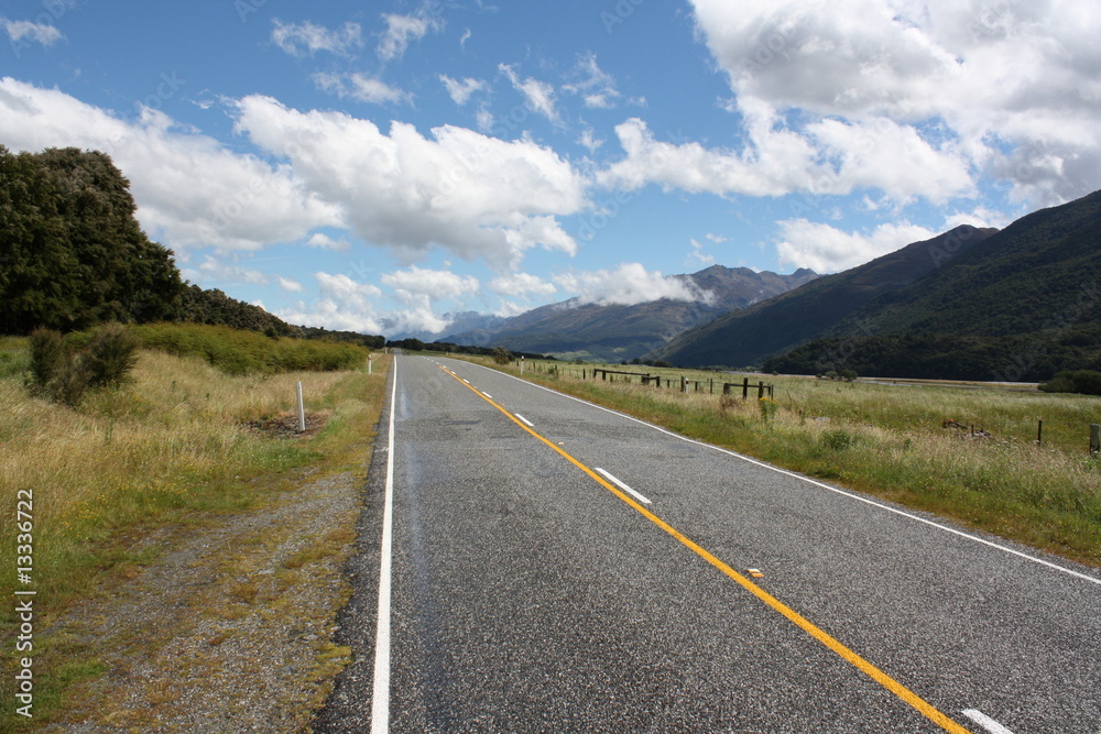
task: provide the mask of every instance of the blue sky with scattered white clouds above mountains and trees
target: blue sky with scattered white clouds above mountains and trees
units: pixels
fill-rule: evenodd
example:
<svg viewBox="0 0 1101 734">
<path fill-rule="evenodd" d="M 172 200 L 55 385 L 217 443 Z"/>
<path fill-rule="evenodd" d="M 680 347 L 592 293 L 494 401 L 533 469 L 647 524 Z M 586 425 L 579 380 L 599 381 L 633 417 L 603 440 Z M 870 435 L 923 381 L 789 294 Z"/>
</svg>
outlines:
<svg viewBox="0 0 1101 734">
<path fill-rule="evenodd" d="M 1087 0 L 0 1 L 0 143 L 105 151 L 284 319 L 697 298 L 1101 188 Z"/>
</svg>

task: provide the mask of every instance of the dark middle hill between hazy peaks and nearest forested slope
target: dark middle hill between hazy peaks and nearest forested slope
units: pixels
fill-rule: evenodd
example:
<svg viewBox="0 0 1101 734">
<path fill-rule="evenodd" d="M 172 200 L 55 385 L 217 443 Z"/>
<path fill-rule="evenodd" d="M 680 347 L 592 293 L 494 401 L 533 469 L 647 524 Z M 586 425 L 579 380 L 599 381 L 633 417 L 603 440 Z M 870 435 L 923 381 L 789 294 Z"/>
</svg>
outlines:
<svg viewBox="0 0 1101 734">
<path fill-rule="evenodd" d="M 958 227 L 836 275 L 724 314 L 682 333 L 652 357 L 686 366 L 759 365 L 822 336 L 876 298 L 945 269 L 998 230 Z M 852 322 L 859 329 L 860 322 Z"/>
</svg>

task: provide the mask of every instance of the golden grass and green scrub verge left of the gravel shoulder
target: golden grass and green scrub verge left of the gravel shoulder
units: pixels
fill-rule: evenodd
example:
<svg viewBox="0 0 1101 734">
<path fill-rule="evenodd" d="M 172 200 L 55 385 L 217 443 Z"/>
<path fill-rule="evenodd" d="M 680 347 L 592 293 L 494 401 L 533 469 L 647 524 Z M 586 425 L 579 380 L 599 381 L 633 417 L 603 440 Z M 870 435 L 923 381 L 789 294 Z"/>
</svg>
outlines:
<svg viewBox="0 0 1101 734">
<path fill-rule="evenodd" d="M 94 645 L 52 639 L 52 622 L 103 583 L 156 563 L 159 551 L 143 548 L 143 537 L 257 511 L 293 489 L 287 478 L 297 468 L 367 470 L 389 358 L 373 355 L 368 374 L 371 353 L 353 344 L 196 325 L 131 328 L 142 344 L 132 369 L 79 401 L 51 399 L 36 387 L 30 338 L 0 337 L 0 547 L 14 552 L 17 493 L 33 492 L 36 725 L 63 705 L 66 689 L 103 671 Z M 86 350 L 70 353 L 72 365 L 97 339 L 69 335 L 61 347 L 47 339 L 45 349 Z M 264 430 L 292 417 L 298 381 L 310 429 L 301 438 Z M 13 599 L 15 581 L 6 574 L 0 593 Z M 6 605 L 8 669 L 17 622 Z M 0 731 L 14 731 L 12 677 L 4 678 Z"/>
</svg>

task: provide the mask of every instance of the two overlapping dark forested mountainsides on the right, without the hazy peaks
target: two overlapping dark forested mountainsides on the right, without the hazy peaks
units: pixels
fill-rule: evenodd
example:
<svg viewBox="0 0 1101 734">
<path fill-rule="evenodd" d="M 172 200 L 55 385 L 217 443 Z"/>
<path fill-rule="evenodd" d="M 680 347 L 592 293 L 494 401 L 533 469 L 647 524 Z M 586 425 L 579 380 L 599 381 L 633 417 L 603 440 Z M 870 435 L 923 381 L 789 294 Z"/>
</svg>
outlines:
<svg viewBox="0 0 1101 734">
<path fill-rule="evenodd" d="M 726 314 L 655 354 L 814 374 L 1046 380 L 1101 368 L 1101 191 L 961 227 Z"/>
</svg>

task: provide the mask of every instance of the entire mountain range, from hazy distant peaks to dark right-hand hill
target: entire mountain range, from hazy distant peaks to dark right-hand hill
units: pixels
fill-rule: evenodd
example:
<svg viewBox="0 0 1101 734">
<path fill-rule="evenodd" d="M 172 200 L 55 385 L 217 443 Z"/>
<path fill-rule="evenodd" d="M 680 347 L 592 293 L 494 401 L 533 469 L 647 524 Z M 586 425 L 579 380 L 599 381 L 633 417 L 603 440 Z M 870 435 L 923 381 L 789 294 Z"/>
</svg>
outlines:
<svg viewBox="0 0 1101 734">
<path fill-rule="evenodd" d="M 697 297 L 461 314 L 439 341 L 804 374 L 1037 381 L 1101 370 L 1101 191 L 832 275 L 713 265 L 671 277 Z"/>
</svg>

